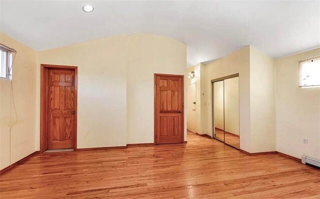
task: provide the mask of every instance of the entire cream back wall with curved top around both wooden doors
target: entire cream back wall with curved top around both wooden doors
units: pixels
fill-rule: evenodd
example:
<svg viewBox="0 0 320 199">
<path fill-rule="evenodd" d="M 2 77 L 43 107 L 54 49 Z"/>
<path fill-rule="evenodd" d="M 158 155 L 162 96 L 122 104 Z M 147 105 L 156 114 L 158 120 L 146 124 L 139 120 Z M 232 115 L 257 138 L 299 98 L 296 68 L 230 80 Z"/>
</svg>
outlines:
<svg viewBox="0 0 320 199">
<path fill-rule="evenodd" d="M 40 51 L 41 63 L 78 66 L 78 148 L 150 143 L 153 75 L 183 75 L 186 46 L 165 36 L 120 35 Z M 186 140 L 186 115 L 184 126 Z"/>
</svg>

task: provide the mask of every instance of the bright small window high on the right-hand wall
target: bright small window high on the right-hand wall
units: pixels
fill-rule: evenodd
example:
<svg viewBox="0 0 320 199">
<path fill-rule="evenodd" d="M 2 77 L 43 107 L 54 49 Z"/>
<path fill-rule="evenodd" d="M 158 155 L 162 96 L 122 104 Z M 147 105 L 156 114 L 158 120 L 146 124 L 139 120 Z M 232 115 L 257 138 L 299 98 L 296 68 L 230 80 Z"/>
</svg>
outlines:
<svg viewBox="0 0 320 199">
<path fill-rule="evenodd" d="M 320 57 L 299 61 L 300 87 L 320 86 Z"/>
</svg>

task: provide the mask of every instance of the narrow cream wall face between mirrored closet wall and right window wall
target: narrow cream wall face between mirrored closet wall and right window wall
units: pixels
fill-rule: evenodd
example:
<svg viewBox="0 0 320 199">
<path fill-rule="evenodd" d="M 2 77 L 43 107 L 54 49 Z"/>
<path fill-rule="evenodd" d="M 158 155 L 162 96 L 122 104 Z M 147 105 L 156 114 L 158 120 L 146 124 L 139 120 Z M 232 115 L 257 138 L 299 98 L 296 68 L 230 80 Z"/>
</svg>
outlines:
<svg viewBox="0 0 320 199">
<path fill-rule="evenodd" d="M 253 46 L 250 46 L 250 118 L 251 152 L 275 151 L 275 62 Z"/>
</svg>

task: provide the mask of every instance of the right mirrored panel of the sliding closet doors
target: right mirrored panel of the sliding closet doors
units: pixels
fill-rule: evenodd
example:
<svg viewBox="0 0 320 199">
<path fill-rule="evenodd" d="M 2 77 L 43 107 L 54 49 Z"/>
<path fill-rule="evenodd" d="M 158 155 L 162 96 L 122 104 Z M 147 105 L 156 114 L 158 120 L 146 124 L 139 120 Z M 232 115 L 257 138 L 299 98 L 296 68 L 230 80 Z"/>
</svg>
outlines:
<svg viewBox="0 0 320 199">
<path fill-rule="evenodd" d="M 224 79 L 224 142 L 239 148 L 239 77 Z"/>
</svg>

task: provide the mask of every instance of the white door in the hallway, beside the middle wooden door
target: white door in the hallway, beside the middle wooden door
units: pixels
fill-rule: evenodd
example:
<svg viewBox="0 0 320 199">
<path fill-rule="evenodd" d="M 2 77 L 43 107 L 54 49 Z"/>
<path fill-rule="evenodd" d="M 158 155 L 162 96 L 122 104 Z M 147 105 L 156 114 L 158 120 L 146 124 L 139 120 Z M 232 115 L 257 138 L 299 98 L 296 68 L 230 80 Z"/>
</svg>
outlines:
<svg viewBox="0 0 320 199">
<path fill-rule="evenodd" d="M 196 84 L 191 83 L 186 87 L 186 108 L 187 108 L 187 122 L 186 128 L 192 132 L 195 132 L 195 125 L 196 125 Z"/>
</svg>

